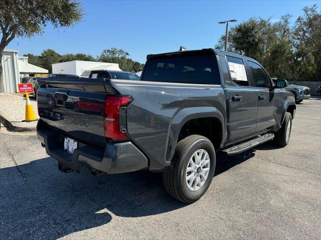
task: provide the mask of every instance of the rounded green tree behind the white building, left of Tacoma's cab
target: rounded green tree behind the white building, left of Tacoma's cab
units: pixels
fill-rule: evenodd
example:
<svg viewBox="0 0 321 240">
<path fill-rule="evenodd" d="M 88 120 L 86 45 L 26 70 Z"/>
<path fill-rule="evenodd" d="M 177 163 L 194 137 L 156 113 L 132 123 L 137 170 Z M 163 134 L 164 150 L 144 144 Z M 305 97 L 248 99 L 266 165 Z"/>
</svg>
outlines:
<svg viewBox="0 0 321 240">
<path fill-rule="evenodd" d="M 119 67 L 124 71 L 140 71 L 144 64 L 134 61 L 131 58 L 127 58 L 127 56 L 129 56 L 129 53 L 125 50 L 112 47 L 110 49 L 103 50 L 100 56 L 97 57 L 97 60 L 101 62 L 118 63 Z"/>
</svg>

